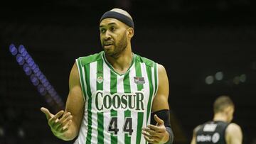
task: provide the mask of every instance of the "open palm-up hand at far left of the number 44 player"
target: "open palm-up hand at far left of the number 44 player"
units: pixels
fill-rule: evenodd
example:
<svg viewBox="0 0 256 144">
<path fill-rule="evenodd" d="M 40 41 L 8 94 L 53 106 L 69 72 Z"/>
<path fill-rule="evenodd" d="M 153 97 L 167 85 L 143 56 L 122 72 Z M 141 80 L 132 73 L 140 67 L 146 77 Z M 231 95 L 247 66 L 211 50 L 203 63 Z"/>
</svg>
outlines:
<svg viewBox="0 0 256 144">
<path fill-rule="evenodd" d="M 48 125 L 50 126 L 53 134 L 58 138 L 62 137 L 65 131 L 68 131 L 68 129 L 70 128 L 70 124 L 72 123 L 73 118 L 70 112 L 63 115 L 64 111 L 59 111 L 58 113 L 53 115 L 48 109 L 44 107 L 41 107 L 41 111 L 46 114 Z"/>
</svg>

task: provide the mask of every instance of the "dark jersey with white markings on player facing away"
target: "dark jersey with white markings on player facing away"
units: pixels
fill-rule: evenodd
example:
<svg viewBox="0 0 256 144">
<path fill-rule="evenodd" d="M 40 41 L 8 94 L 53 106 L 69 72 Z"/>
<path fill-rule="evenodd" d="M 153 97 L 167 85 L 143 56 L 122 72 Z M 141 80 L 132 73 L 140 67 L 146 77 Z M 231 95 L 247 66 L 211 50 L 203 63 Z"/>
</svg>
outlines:
<svg viewBox="0 0 256 144">
<path fill-rule="evenodd" d="M 196 144 L 226 144 L 225 129 L 228 123 L 223 121 L 208 121 L 198 126 Z"/>
</svg>

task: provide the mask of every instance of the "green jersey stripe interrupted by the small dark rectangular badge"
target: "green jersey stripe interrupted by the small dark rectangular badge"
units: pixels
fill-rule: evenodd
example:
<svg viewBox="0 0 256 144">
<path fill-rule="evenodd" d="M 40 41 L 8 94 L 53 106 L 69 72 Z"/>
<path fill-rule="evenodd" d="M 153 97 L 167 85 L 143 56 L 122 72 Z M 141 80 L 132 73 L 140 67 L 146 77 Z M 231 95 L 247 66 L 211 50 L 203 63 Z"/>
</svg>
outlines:
<svg viewBox="0 0 256 144">
<path fill-rule="evenodd" d="M 138 60 L 135 61 L 135 70 L 136 70 L 136 77 L 142 77 L 142 67 L 140 65 L 140 62 Z M 143 89 L 143 84 L 137 84 L 138 91 L 141 91 Z M 143 112 L 138 112 L 137 117 L 137 138 L 136 143 L 140 144 L 140 140 L 142 138 L 142 123 L 143 123 Z"/>
</svg>

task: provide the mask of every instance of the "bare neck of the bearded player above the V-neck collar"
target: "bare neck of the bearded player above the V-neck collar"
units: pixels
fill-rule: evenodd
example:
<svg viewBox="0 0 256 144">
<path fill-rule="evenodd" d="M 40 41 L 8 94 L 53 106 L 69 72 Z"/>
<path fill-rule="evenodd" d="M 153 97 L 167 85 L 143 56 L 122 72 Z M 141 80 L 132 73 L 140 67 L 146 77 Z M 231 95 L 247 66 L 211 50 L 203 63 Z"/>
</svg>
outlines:
<svg viewBox="0 0 256 144">
<path fill-rule="evenodd" d="M 131 48 L 126 48 L 118 57 L 107 57 L 107 61 L 119 74 L 124 74 L 132 65 L 133 53 Z"/>
</svg>

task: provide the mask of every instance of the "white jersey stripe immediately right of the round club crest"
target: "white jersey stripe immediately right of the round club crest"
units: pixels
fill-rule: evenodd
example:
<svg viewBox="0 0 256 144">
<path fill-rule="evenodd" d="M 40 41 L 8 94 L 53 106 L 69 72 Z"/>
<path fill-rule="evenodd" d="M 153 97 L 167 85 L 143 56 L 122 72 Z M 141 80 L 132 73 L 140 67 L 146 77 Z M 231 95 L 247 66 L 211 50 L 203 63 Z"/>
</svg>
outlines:
<svg viewBox="0 0 256 144">
<path fill-rule="evenodd" d="M 107 92 L 107 93 L 110 93 L 110 68 L 107 67 L 105 61 L 103 62 L 103 91 L 104 92 Z M 109 126 L 109 123 L 110 123 L 110 111 L 107 112 L 105 111 L 103 113 L 103 116 L 104 116 L 104 143 L 110 143 L 110 133 L 107 132 L 108 130 L 108 126 Z"/>
</svg>

